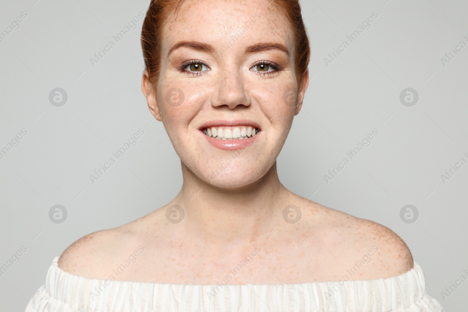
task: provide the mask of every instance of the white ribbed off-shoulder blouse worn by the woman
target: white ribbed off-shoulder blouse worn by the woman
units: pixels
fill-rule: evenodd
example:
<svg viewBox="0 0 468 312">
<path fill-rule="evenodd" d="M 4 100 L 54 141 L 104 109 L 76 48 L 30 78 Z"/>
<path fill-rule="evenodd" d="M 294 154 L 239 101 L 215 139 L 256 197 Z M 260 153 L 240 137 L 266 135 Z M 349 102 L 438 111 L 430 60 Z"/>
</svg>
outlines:
<svg viewBox="0 0 468 312">
<path fill-rule="evenodd" d="M 26 312 L 444 312 L 416 262 L 377 280 L 218 286 L 89 279 L 58 261 Z"/>
</svg>

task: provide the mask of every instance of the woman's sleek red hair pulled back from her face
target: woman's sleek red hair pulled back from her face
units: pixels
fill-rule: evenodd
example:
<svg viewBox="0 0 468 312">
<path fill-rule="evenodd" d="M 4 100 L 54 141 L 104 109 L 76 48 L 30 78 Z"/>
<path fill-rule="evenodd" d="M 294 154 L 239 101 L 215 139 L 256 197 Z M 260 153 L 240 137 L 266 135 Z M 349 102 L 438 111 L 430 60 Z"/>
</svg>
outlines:
<svg viewBox="0 0 468 312">
<path fill-rule="evenodd" d="M 170 15 L 176 14 L 184 0 L 151 0 L 145 21 L 141 29 L 141 47 L 145 68 L 149 81 L 156 86 L 159 80 L 161 65 L 162 30 Z M 302 75 L 307 71 L 310 58 L 309 39 L 306 27 L 300 13 L 299 0 L 274 0 L 271 5 L 276 6 L 283 13 L 292 26 L 294 33 L 294 71 L 299 89 L 302 86 Z M 150 91 L 154 91 L 150 90 Z"/>
</svg>

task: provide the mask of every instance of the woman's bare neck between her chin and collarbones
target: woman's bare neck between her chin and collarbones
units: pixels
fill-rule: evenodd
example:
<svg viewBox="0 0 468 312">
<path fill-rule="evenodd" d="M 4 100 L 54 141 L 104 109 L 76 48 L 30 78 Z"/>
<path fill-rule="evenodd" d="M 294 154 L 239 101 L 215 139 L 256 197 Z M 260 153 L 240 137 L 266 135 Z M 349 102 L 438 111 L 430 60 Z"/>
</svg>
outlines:
<svg viewBox="0 0 468 312">
<path fill-rule="evenodd" d="M 200 239 L 243 245 L 267 239 L 275 231 L 284 208 L 280 198 L 288 192 L 278 179 L 276 162 L 262 178 L 237 189 L 213 186 L 184 164 L 182 172 L 183 186 L 173 203 L 185 210 L 181 225 Z"/>
</svg>

